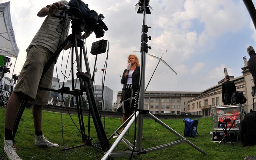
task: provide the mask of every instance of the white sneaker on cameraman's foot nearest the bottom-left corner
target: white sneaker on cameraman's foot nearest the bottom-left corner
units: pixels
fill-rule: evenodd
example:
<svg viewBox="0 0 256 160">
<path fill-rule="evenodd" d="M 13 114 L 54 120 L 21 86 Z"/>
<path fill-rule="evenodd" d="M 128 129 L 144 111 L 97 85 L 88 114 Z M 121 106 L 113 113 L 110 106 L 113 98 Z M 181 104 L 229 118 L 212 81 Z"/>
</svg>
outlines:
<svg viewBox="0 0 256 160">
<path fill-rule="evenodd" d="M 14 149 L 13 140 L 4 139 L 4 152 L 10 160 L 22 160 Z"/>
</svg>

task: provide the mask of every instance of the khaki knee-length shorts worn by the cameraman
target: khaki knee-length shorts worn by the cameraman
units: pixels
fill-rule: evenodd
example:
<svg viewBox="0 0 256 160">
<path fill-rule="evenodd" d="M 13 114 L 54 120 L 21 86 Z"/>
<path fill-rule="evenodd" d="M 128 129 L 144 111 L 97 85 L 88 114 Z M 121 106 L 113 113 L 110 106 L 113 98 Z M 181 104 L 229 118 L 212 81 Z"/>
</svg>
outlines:
<svg viewBox="0 0 256 160">
<path fill-rule="evenodd" d="M 14 92 L 21 91 L 27 95 L 31 104 L 47 105 L 50 91 L 39 90 L 38 87 L 51 88 L 54 63 L 49 67 L 44 77 L 41 75 L 45 64 L 53 53 L 44 46 L 34 45 L 27 52 L 27 59 L 21 69 Z"/>
</svg>

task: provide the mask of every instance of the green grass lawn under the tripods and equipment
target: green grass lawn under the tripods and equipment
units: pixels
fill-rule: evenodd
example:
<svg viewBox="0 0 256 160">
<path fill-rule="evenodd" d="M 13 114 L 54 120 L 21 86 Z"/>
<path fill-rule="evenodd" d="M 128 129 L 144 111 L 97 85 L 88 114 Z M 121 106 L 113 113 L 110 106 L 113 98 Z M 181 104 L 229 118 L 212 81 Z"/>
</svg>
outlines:
<svg viewBox="0 0 256 160">
<path fill-rule="evenodd" d="M 0 107 L 0 146 L 4 144 L 4 119 L 6 108 Z M 79 126 L 77 115 L 72 115 L 76 125 Z M 183 135 L 184 122 L 183 119 L 168 119 L 163 120 L 165 124 L 170 126 L 176 132 Z M 86 125 L 86 133 L 88 126 L 88 116 L 84 116 L 84 124 Z M 105 118 L 105 132 L 107 136 L 110 136 L 121 125 L 121 118 Z M 94 128 L 94 124 L 91 119 L 91 133 L 93 143 L 97 142 L 97 136 Z M 25 109 L 21 118 L 20 125 L 15 137 L 15 145 L 17 147 L 17 153 L 23 160 L 65 160 L 66 154 L 69 160 L 98 160 L 103 157 L 102 151 L 95 150 L 91 146 L 83 146 L 76 149 L 66 151 L 60 151 L 63 149 L 62 139 L 62 126 L 61 126 L 61 114 L 43 111 L 43 124 L 42 130 L 44 136 L 51 142 L 58 143 L 59 148 L 49 149 L 40 148 L 35 146 L 34 126 L 32 118 L 32 109 Z M 187 143 L 182 143 L 169 147 L 167 149 L 158 150 L 147 154 L 142 154 L 139 158 L 143 160 L 243 160 L 246 156 L 256 155 L 256 146 L 242 147 L 241 141 L 234 143 L 223 143 L 219 147 L 218 143 L 211 142 L 212 136 L 212 118 L 199 119 L 197 132 L 200 136 L 195 138 L 186 137 L 194 145 L 200 147 L 207 152 L 207 155 L 202 154 L 198 150 L 194 149 Z M 126 134 L 127 138 L 133 143 L 134 126 L 131 127 L 129 133 Z M 73 124 L 68 114 L 63 114 L 63 136 L 65 147 L 73 147 L 82 144 L 82 138 L 77 131 L 76 126 Z M 163 145 L 176 140 L 179 140 L 173 133 L 167 131 L 157 122 L 152 119 L 143 120 L 143 139 L 142 148 L 150 148 L 154 146 Z M 115 139 L 111 139 L 110 143 L 114 143 Z M 124 151 L 127 147 L 120 143 L 115 151 Z M 0 155 L 1 155 L 0 149 Z M 116 160 L 129 159 L 129 157 L 115 158 Z M 135 159 L 135 158 L 133 158 Z"/>
</svg>

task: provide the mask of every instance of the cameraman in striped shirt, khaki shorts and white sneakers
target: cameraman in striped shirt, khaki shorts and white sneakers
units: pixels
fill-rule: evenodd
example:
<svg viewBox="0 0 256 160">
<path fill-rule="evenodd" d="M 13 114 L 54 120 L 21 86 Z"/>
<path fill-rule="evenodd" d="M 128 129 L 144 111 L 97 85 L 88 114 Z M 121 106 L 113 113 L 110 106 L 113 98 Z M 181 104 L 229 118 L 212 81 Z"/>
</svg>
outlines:
<svg viewBox="0 0 256 160">
<path fill-rule="evenodd" d="M 51 88 L 54 63 L 40 81 L 42 71 L 46 62 L 48 62 L 68 34 L 70 21 L 64 21 L 60 24 L 59 18 L 52 17 L 53 14 L 61 11 L 60 6 L 63 4 L 68 4 L 68 1 L 60 0 L 47 5 L 37 14 L 38 17 L 47 17 L 26 50 L 27 59 L 6 108 L 4 152 L 10 160 L 21 160 L 13 146 L 12 131 L 22 100 L 30 100 L 30 103 L 33 104 L 35 145 L 40 147 L 59 146 L 46 140 L 43 135 L 41 128 L 42 107 L 48 104 L 49 91 L 38 90 L 38 87 Z"/>
</svg>

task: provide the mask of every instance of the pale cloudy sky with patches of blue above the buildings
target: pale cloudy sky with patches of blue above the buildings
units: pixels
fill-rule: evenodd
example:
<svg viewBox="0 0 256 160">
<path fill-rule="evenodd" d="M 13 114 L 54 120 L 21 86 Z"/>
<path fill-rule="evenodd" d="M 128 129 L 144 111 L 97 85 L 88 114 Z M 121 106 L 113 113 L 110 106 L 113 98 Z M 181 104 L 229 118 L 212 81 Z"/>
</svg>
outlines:
<svg viewBox="0 0 256 160">
<path fill-rule="evenodd" d="M 6 1 L 0 0 L 0 3 Z M 10 1 L 11 21 L 20 49 L 14 74 L 19 74 L 26 59 L 25 50 L 45 19 L 37 17 L 37 13 L 55 1 Z M 93 72 L 95 56 L 90 53 L 91 44 L 101 39 L 108 40 L 104 85 L 114 91 L 115 102 L 122 88 L 120 76 L 127 66 L 128 55 L 136 54 L 141 60 L 141 53 L 134 51 L 140 51 L 143 15 L 135 11 L 136 0 L 83 1 L 89 4 L 90 10 L 105 16 L 103 21 L 108 31 L 102 38 L 95 38 L 93 33 L 86 39 L 87 53 Z M 256 47 L 256 31 L 242 0 L 151 0 L 149 5 L 153 10 L 145 16 L 145 24 L 151 27 L 147 34 L 152 38 L 148 41 L 148 46 L 152 47 L 148 53 L 161 57 L 168 50 L 162 59 L 177 76 L 162 62 L 156 68 L 158 59 L 146 55 L 145 86 L 156 68 L 147 91 L 204 91 L 224 78 L 224 67 L 230 76 L 242 76 L 243 56 L 249 59 L 246 49 L 250 45 Z M 61 53 L 56 64 L 60 81 L 64 80 L 61 72 L 65 73 L 66 66 L 67 72 L 70 70 L 68 54 L 68 51 Z M 102 84 L 101 69 L 106 57 L 107 53 L 97 57 L 96 85 Z M 15 58 L 11 58 L 11 62 L 14 63 Z M 55 69 L 54 77 L 57 77 L 57 72 Z M 11 77 L 11 73 L 6 76 Z"/>
</svg>

